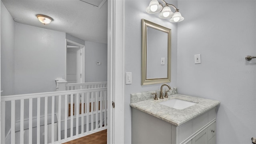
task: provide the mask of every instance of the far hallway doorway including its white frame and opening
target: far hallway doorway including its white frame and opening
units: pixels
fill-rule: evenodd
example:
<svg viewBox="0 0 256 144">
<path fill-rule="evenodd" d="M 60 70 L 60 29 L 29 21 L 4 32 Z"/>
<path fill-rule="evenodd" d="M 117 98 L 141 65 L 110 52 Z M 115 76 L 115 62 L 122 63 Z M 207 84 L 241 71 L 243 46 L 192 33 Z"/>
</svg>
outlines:
<svg viewBox="0 0 256 144">
<path fill-rule="evenodd" d="M 65 80 L 68 83 L 85 82 L 85 46 L 66 39 Z"/>
</svg>

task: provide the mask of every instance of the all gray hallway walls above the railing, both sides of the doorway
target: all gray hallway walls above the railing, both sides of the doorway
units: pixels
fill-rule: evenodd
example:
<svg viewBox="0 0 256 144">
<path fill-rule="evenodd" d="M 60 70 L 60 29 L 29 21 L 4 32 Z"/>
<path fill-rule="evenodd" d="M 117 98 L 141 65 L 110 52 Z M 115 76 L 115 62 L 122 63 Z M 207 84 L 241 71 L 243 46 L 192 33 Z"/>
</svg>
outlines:
<svg viewBox="0 0 256 144">
<path fill-rule="evenodd" d="M 16 23 L 5 7 L 1 10 L 2 95 L 55 91 L 54 80 L 65 78 L 65 38 L 85 42 L 64 32 Z M 107 44 L 86 41 L 86 82 L 102 81 L 107 81 Z"/>
</svg>

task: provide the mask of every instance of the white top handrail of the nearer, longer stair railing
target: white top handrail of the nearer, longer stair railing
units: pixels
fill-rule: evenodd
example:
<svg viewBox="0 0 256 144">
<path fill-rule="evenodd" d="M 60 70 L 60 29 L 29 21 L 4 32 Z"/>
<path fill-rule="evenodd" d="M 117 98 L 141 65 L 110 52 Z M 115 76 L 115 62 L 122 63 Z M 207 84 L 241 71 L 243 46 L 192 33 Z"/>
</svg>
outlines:
<svg viewBox="0 0 256 144">
<path fill-rule="evenodd" d="M 49 97 L 49 96 L 60 96 L 66 94 L 74 94 L 74 93 L 82 93 L 82 92 L 95 92 L 95 91 L 102 91 L 106 90 L 107 88 L 89 88 L 89 89 L 81 89 L 81 90 L 64 90 L 64 91 L 54 91 L 54 92 L 41 92 L 41 93 L 33 93 L 33 94 L 17 94 L 17 95 L 10 95 L 10 96 L 1 96 L 2 101 L 8 100 L 22 100 L 28 98 L 42 98 L 42 97 Z"/>
</svg>

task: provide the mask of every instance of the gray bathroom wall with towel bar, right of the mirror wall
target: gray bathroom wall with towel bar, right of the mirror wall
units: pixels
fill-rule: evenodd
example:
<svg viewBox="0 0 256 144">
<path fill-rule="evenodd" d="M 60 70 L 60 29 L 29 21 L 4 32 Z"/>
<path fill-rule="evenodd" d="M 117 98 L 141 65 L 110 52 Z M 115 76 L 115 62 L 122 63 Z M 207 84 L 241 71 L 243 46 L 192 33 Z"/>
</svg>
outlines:
<svg viewBox="0 0 256 144">
<path fill-rule="evenodd" d="M 256 137 L 256 1 L 181 0 L 177 86 L 180 94 L 219 100 L 217 144 Z M 194 64 L 201 54 L 202 64 Z"/>
</svg>

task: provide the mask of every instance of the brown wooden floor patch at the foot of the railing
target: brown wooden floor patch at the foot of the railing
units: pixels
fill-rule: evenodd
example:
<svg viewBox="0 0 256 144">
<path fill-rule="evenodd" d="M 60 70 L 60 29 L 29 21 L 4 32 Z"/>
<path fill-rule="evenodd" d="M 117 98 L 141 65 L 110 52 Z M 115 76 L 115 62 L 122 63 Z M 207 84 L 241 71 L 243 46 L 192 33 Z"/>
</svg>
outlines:
<svg viewBox="0 0 256 144">
<path fill-rule="evenodd" d="M 63 144 L 106 144 L 107 143 L 107 130 L 102 130 L 76 140 L 65 142 Z"/>
</svg>

